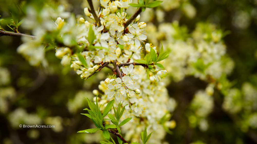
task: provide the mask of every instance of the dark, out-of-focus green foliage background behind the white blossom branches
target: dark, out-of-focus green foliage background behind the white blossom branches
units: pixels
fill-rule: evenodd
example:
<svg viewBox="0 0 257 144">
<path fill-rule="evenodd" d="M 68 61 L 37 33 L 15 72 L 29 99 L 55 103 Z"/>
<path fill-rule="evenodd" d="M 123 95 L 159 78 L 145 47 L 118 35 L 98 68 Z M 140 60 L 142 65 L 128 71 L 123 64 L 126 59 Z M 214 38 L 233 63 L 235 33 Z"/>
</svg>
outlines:
<svg viewBox="0 0 257 144">
<path fill-rule="evenodd" d="M 197 25 L 204 29 L 208 27 L 204 24 L 214 24 L 223 34 L 226 53 L 234 61 L 234 69 L 227 79 L 236 90 L 228 93 L 235 94 L 233 101 L 238 105 L 242 105 L 240 101 L 243 93 L 252 92 L 256 98 L 257 1 L 164 1 L 158 9 L 146 9 L 141 14 L 142 21 L 156 27 L 161 23 L 170 23 L 177 31 L 173 38 L 182 40 L 191 37 Z M 93 2 L 95 7 L 99 6 L 99 2 Z M 88 7 L 86 0 L 0 0 L 0 15 L 1 18 L 12 19 L 12 13 L 21 20 L 26 16 L 28 5 L 33 5 L 39 12 L 46 3 L 53 7 L 63 5 L 66 11 L 75 13 L 77 18 L 85 18 L 83 9 Z M 10 30 L 7 26 L 2 27 Z M 212 29 L 205 29 L 208 30 L 212 33 Z M 22 27 L 19 31 L 30 34 Z M 159 41 L 163 37 L 158 36 L 155 39 Z M 205 40 L 208 41 L 208 36 Z M 52 52 L 46 53 L 49 63 L 47 68 L 33 67 L 17 54 L 16 48 L 21 43 L 19 37 L 0 37 L 0 143 L 98 143 L 102 139 L 100 133 L 85 135 L 76 132 L 92 125 L 87 117 L 80 115 L 82 109 L 87 107 L 84 97 L 94 97 L 92 91 L 98 89 L 99 82 L 112 71 L 103 69 L 85 81 L 70 67 L 61 66 L 60 60 Z M 240 114 L 227 112 L 223 108 L 224 93 L 214 88 L 214 106 L 205 118 L 208 120 L 208 129 L 199 128 L 201 126 L 197 126 L 197 121 L 201 119 L 194 114 L 197 105 L 191 103 L 197 101 L 194 99 L 196 92 L 205 89 L 209 82 L 194 76 L 186 76 L 179 81 L 173 81 L 170 77 L 170 81 L 167 89 L 178 105 L 172 116 L 176 127 L 172 129 L 172 134 L 166 135 L 166 141 L 180 144 L 257 143 L 256 109 Z M 241 88 L 242 91 L 238 90 Z M 257 105 L 257 101 L 251 102 Z M 249 124 L 249 117 L 252 118 L 252 125 Z M 200 123 L 206 124 L 205 121 Z M 19 128 L 20 124 L 55 125 L 56 128 Z"/>
</svg>

